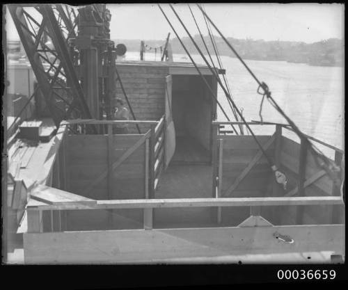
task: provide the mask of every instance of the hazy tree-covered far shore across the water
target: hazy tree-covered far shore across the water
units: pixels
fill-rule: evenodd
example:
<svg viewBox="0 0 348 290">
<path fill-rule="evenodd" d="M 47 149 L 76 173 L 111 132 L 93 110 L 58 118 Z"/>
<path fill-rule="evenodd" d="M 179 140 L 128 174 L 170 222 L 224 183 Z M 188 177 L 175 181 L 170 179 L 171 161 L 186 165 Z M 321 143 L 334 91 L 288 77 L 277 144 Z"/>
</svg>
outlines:
<svg viewBox="0 0 348 290">
<path fill-rule="evenodd" d="M 200 35 L 194 35 L 194 40 L 204 53 L 205 47 Z M 208 35 L 203 37 L 209 52 L 214 54 L 214 48 Z M 221 56 L 235 57 L 226 43 L 219 36 L 214 36 L 216 46 Z M 124 43 L 128 51 L 139 51 L 141 40 L 115 40 Z M 308 63 L 309 65 L 343 66 L 344 53 L 343 42 L 338 38 L 330 38 L 319 42 L 306 43 L 294 41 L 265 41 L 251 38 L 237 39 L 228 38 L 228 41 L 244 59 L 259 61 L 288 61 L 291 63 Z M 160 52 L 164 48 L 164 40 L 144 40 L 149 51 Z M 180 41 L 177 38 L 170 40 L 173 54 L 185 54 Z M 190 54 L 198 54 L 196 47 L 188 37 L 182 38 L 182 42 Z"/>
</svg>

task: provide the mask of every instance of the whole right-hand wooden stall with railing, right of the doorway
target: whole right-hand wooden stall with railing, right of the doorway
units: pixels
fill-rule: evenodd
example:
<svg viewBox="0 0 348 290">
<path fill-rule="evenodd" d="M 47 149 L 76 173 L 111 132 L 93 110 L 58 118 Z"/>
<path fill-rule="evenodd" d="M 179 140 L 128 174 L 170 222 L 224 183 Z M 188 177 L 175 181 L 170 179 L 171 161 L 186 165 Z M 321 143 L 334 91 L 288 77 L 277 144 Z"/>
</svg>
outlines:
<svg viewBox="0 0 348 290">
<path fill-rule="evenodd" d="M 340 186 L 333 183 L 328 172 L 315 161 L 308 143 L 301 143 L 283 136 L 281 124 L 267 124 L 275 127 L 271 136 L 257 136 L 267 156 L 287 177 L 286 188 L 277 184 L 274 172 L 252 136 L 226 136 L 219 134 L 221 124 L 242 124 L 237 122 L 214 122 L 216 140 L 213 147 L 213 192 L 212 196 L 223 197 L 271 197 L 271 196 L 342 196 Z M 260 126 L 251 122 L 249 125 Z M 308 136 L 309 137 L 309 136 Z M 310 137 L 309 137 L 310 138 Z M 312 141 L 334 151 L 335 162 L 342 163 L 342 150 Z M 333 160 L 332 160 L 333 161 Z M 344 172 L 344 168 L 340 168 Z M 342 179 L 342 177 L 341 177 Z M 318 207 L 306 205 L 283 205 L 280 207 L 219 209 L 217 219 L 223 225 L 236 225 L 248 216 L 262 216 L 274 225 L 319 225 L 344 223 L 344 205 L 322 204 Z"/>
</svg>

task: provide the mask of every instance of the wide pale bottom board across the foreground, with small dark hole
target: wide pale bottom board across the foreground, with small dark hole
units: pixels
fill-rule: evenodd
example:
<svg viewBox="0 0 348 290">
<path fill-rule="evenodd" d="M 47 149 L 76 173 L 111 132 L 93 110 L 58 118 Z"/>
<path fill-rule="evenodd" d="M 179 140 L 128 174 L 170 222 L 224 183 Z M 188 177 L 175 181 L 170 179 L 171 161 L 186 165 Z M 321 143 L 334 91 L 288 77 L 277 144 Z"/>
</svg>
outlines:
<svg viewBox="0 0 348 290">
<path fill-rule="evenodd" d="M 294 243 L 283 243 L 274 233 L 290 236 Z M 24 261 L 29 264 L 178 263 L 179 258 L 199 258 L 201 263 L 330 263 L 331 253 L 345 255 L 344 248 L 343 225 L 24 234 Z"/>
</svg>

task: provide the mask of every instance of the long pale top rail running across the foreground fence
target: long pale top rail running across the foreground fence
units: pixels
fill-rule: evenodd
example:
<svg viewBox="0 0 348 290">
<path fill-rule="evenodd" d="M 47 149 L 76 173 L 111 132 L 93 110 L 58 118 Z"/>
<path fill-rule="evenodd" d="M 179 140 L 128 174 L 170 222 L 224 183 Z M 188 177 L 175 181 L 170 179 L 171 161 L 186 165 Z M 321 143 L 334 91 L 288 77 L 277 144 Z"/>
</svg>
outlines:
<svg viewBox="0 0 348 290">
<path fill-rule="evenodd" d="M 92 200 L 90 202 L 54 202 L 27 205 L 28 210 L 76 209 L 154 209 L 173 207 L 260 207 L 280 205 L 343 204 L 340 196 L 269 197 L 269 198 L 168 198 L 148 200 Z"/>
</svg>

